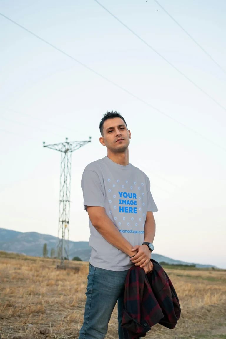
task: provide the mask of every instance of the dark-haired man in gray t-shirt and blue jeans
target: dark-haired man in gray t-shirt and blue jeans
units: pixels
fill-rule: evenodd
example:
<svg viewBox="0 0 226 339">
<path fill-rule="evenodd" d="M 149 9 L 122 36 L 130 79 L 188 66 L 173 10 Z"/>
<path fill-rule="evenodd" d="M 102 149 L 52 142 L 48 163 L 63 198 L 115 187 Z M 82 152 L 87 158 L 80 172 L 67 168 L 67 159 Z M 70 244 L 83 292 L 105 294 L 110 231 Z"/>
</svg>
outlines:
<svg viewBox="0 0 226 339">
<path fill-rule="evenodd" d="M 152 271 L 153 212 L 158 209 L 148 177 L 129 163 L 131 133 L 124 118 L 118 112 L 107 112 L 100 132 L 107 156 L 87 165 L 81 181 L 91 256 L 79 339 L 103 339 L 117 301 L 118 335 L 123 339 L 125 277 L 134 264 L 145 273 Z"/>
</svg>

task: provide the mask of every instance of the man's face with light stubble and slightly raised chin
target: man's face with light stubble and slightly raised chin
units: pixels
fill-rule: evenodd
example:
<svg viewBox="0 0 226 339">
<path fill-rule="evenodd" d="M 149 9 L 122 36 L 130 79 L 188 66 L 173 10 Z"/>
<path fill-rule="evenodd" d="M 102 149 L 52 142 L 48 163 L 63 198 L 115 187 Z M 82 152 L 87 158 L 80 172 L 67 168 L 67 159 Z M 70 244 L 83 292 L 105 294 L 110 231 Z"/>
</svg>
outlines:
<svg viewBox="0 0 226 339">
<path fill-rule="evenodd" d="M 103 136 L 100 143 L 113 153 L 122 153 L 129 146 L 130 131 L 121 118 L 112 118 L 104 121 Z"/>
</svg>

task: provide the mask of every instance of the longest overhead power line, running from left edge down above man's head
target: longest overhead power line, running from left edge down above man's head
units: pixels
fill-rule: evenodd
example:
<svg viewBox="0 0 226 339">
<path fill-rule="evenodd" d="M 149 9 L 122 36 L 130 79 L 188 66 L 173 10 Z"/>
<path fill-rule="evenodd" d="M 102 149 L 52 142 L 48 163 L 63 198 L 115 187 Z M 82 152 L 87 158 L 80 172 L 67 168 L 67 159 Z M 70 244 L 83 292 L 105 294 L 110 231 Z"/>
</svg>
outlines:
<svg viewBox="0 0 226 339">
<path fill-rule="evenodd" d="M 145 105 L 151 107 L 152 109 L 155 109 L 155 111 L 157 111 L 157 112 L 163 114 L 164 116 L 166 116 L 167 118 L 173 120 L 174 122 L 177 122 L 177 123 L 180 124 L 181 126 L 183 126 L 183 127 L 185 127 L 186 129 L 188 129 L 190 132 L 192 132 L 192 133 L 198 135 L 199 137 L 201 137 L 201 138 L 207 140 L 208 142 L 212 143 L 213 145 L 215 145 L 215 146 L 217 146 L 217 147 L 220 147 L 221 149 L 223 149 L 224 151 L 226 151 L 226 148 L 225 148 L 225 147 L 223 147 L 223 146 L 221 146 L 221 145 L 215 143 L 214 141 L 212 141 L 212 140 L 206 138 L 205 136 L 203 136 L 203 135 L 200 134 L 199 132 L 194 131 L 194 129 L 188 127 L 187 125 L 183 124 L 182 122 L 178 121 L 177 119 L 174 119 L 173 117 L 171 117 L 170 115 L 168 115 L 168 114 L 166 114 L 165 112 L 161 111 L 160 109 L 158 109 L 158 108 L 152 106 L 149 102 L 147 102 L 147 101 L 145 101 L 145 100 L 139 98 L 137 95 L 135 95 L 135 94 L 133 94 L 133 93 L 127 91 L 127 89 L 125 89 L 124 87 L 122 87 L 122 86 L 116 84 L 115 82 L 109 80 L 108 78 L 106 78 L 106 77 L 103 76 L 102 74 L 96 72 L 94 69 L 92 69 L 92 68 L 90 68 L 89 66 L 85 65 L 84 63 L 82 63 L 81 61 L 79 61 L 79 60 L 75 59 L 74 57 L 72 57 L 71 55 L 65 53 L 64 51 L 62 51 L 62 49 L 60 49 L 60 48 L 54 46 L 54 45 L 51 44 L 50 42 L 48 42 L 48 41 L 46 41 L 45 39 L 39 37 L 37 34 L 35 34 L 35 33 L 31 32 L 31 31 L 29 31 L 29 29 L 23 27 L 23 26 L 20 25 L 19 23 L 17 23 L 17 22 L 15 22 L 15 21 L 13 21 L 12 19 L 6 17 L 6 16 L 5 16 L 4 14 L 2 14 L 2 13 L 0 13 L 0 15 L 1 15 L 2 17 L 6 18 L 7 20 L 13 22 L 15 25 L 19 26 L 20 28 L 24 29 L 24 31 L 26 31 L 26 32 L 28 32 L 28 33 L 30 33 L 30 34 L 32 34 L 32 35 L 35 36 L 37 39 L 39 39 L 39 40 L 43 41 L 44 43 L 46 43 L 47 45 L 53 47 L 53 48 L 56 49 L 58 52 L 60 52 L 60 53 L 62 53 L 62 54 L 64 54 L 64 55 L 66 55 L 68 58 L 70 58 L 70 59 L 76 61 L 77 63 L 79 63 L 80 65 L 82 65 L 83 67 L 85 67 L 86 69 L 88 69 L 89 71 L 95 73 L 96 75 L 98 75 L 98 76 L 101 77 L 102 79 L 108 81 L 109 83 L 111 83 L 112 85 L 114 85 L 114 86 L 120 88 L 122 91 L 126 92 L 127 94 L 131 95 L 132 97 L 134 97 L 134 98 L 138 99 L 139 101 L 143 102 Z"/>
</svg>

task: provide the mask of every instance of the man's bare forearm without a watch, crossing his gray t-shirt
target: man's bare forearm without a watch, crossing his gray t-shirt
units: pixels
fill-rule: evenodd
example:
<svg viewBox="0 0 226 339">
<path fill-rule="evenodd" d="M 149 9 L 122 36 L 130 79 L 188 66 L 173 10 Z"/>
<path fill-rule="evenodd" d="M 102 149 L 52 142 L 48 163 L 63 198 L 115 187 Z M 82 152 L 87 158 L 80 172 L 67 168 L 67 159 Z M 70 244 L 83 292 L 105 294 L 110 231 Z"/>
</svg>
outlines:
<svg viewBox="0 0 226 339">
<path fill-rule="evenodd" d="M 129 256 L 135 254 L 135 252 L 131 252 L 132 245 L 122 236 L 118 228 L 107 215 L 99 218 L 94 227 L 111 245 L 117 247 Z"/>
</svg>

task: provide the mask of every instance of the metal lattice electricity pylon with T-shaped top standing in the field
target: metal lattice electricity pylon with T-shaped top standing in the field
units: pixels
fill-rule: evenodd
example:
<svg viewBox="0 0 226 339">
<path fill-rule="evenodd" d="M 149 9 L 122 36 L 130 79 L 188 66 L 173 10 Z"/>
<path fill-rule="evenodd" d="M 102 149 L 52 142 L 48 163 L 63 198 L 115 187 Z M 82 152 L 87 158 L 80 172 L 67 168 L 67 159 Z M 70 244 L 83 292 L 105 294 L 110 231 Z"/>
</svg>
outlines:
<svg viewBox="0 0 226 339">
<path fill-rule="evenodd" d="M 80 147 L 91 142 L 91 137 L 87 141 L 60 142 L 59 144 L 45 145 L 61 152 L 60 164 L 60 206 L 59 206 L 59 225 L 58 225 L 58 246 L 60 251 L 60 265 L 64 265 L 64 258 L 69 260 L 69 214 L 70 214 L 70 182 L 71 182 L 71 153 Z"/>
</svg>

